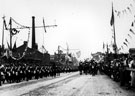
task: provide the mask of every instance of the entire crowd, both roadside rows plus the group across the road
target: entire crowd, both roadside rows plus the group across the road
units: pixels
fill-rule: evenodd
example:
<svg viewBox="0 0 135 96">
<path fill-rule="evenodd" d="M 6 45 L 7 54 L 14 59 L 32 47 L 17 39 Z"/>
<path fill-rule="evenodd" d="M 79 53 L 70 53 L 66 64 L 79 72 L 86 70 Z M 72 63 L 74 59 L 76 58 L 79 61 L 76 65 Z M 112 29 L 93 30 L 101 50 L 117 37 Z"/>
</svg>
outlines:
<svg viewBox="0 0 135 96">
<path fill-rule="evenodd" d="M 126 88 L 135 88 L 135 55 L 123 56 L 102 62 L 95 60 L 79 62 L 78 68 L 57 66 L 55 62 L 46 66 L 38 64 L 11 63 L 0 65 L 0 85 L 19 83 L 33 79 L 56 77 L 60 73 L 79 71 L 80 75 L 95 76 L 98 72 L 108 75 L 112 80 L 119 82 Z"/>
</svg>

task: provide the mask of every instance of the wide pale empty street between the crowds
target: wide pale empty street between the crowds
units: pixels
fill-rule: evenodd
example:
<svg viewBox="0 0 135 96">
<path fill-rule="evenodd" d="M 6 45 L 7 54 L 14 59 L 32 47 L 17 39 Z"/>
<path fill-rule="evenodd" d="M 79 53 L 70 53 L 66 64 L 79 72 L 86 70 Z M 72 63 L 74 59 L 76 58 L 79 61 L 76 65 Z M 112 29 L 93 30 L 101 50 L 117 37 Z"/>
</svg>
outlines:
<svg viewBox="0 0 135 96">
<path fill-rule="evenodd" d="M 135 96 L 106 75 L 64 73 L 60 77 L 8 84 L 0 87 L 0 96 Z"/>
</svg>

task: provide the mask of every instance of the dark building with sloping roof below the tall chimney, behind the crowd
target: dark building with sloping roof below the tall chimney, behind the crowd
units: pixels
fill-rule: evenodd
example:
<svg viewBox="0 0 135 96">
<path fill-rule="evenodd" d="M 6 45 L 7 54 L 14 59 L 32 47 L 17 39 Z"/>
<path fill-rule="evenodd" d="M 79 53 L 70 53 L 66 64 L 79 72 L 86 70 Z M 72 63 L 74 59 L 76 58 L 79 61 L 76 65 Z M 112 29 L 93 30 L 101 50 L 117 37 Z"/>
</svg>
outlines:
<svg viewBox="0 0 135 96">
<path fill-rule="evenodd" d="M 36 49 L 27 47 L 27 41 L 24 41 L 23 45 L 15 48 L 9 56 L 10 58 L 8 59 L 13 62 L 39 63 L 42 65 L 50 63 L 49 53 L 41 53 Z"/>
</svg>

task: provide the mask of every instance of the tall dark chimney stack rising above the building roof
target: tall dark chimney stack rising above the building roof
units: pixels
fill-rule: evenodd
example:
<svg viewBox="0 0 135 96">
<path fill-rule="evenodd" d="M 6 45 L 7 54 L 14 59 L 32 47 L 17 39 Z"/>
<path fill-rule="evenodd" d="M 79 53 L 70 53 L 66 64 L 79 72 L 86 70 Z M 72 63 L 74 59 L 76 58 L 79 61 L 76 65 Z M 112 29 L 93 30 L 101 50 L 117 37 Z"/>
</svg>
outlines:
<svg viewBox="0 0 135 96">
<path fill-rule="evenodd" d="M 35 38 L 35 16 L 32 16 L 32 49 L 35 49 L 36 45 Z"/>
</svg>

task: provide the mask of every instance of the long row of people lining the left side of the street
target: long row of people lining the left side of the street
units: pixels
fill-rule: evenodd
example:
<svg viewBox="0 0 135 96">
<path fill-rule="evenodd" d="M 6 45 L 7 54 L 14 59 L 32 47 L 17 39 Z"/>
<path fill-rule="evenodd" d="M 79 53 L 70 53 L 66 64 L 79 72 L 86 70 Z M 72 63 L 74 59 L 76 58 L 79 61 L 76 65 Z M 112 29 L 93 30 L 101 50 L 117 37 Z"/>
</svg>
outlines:
<svg viewBox="0 0 135 96">
<path fill-rule="evenodd" d="M 8 64 L 0 66 L 0 86 L 4 83 L 19 83 L 22 81 L 29 81 L 32 79 L 39 79 L 43 77 L 56 77 L 60 73 L 76 71 L 71 67 L 56 66 L 40 66 L 27 64 Z"/>
</svg>

